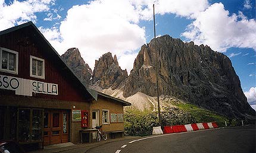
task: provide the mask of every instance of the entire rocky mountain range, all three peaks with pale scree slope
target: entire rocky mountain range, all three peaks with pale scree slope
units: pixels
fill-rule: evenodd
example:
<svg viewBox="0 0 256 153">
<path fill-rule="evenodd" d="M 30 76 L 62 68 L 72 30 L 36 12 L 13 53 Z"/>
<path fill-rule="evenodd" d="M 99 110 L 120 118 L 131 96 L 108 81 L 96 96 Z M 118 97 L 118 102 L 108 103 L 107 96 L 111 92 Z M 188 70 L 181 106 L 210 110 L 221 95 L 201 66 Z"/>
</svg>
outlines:
<svg viewBox="0 0 256 153">
<path fill-rule="evenodd" d="M 243 94 L 230 59 L 209 46 L 184 43 L 168 35 L 158 37 L 141 47 L 129 76 L 110 52 L 95 60 L 93 72 L 76 48 L 68 49 L 62 57 L 90 88 L 129 101 L 139 109 L 157 108 L 158 64 L 162 108 L 181 100 L 227 117 L 255 120 L 255 110 Z"/>
</svg>

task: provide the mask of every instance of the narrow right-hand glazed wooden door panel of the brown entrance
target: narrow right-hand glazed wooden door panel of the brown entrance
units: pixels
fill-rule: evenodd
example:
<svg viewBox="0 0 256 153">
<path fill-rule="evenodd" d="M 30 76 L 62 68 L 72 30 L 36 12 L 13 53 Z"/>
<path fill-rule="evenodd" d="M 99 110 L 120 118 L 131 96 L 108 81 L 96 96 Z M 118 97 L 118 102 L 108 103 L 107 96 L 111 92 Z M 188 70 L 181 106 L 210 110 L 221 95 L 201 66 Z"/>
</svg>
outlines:
<svg viewBox="0 0 256 153">
<path fill-rule="evenodd" d="M 61 143 L 68 142 L 69 114 L 67 110 L 61 111 Z"/>
</svg>

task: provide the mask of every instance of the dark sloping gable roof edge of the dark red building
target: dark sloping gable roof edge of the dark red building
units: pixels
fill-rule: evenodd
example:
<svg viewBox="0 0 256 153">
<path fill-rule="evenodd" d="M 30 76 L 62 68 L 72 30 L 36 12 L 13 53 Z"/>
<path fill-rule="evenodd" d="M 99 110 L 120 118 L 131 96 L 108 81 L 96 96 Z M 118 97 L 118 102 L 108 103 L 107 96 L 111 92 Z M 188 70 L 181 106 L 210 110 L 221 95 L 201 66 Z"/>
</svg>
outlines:
<svg viewBox="0 0 256 153">
<path fill-rule="evenodd" d="M 92 101 L 93 99 L 97 100 L 97 92 L 93 90 L 89 90 L 85 85 L 83 85 L 82 81 L 74 74 L 74 72 L 67 66 L 67 64 L 64 62 L 64 60 L 61 58 L 61 56 L 58 54 L 58 52 L 52 47 L 52 45 L 48 42 L 48 40 L 45 39 L 43 34 L 38 30 L 35 24 L 32 23 L 32 21 L 29 21 L 28 23 L 24 23 L 21 25 L 17 25 L 15 27 L 8 28 L 7 30 L 0 31 L 0 36 L 4 34 L 11 33 L 16 30 L 20 30 L 22 28 L 30 28 L 30 30 L 35 31 L 35 35 L 33 36 L 33 39 L 36 39 L 37 41 L 40 41 L 40 43 L 43 43 L 46 45 L 45 52 L 47 52 L 49 55 L 55 58 L 55 60 L 58 61 L 58 65 L 61 66 L 61 69 L 67 74 L 73 81 L 78 84 L 77 88 L 82 89 L 85 91 L 85 97 L 86 100 Z"/>
</svg>

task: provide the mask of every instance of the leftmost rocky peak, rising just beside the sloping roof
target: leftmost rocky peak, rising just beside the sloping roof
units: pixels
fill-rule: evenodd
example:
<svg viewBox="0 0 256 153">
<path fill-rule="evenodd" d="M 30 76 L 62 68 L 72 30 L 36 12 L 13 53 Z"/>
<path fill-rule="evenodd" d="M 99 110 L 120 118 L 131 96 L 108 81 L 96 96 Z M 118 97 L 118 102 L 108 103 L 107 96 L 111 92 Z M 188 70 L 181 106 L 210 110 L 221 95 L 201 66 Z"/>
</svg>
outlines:
<svg viewBox="0 0 256 153">
<path fill-rule="evenodd" d="M 89 85 L 92 76 L 92 69 L 85 63 L 80 55 L 79 49 L 70 48 L 63 55 L 61 55 L 64 62 L 73 70 L 73 72 L 81 79 L 83 84 Z"/>
</svg>

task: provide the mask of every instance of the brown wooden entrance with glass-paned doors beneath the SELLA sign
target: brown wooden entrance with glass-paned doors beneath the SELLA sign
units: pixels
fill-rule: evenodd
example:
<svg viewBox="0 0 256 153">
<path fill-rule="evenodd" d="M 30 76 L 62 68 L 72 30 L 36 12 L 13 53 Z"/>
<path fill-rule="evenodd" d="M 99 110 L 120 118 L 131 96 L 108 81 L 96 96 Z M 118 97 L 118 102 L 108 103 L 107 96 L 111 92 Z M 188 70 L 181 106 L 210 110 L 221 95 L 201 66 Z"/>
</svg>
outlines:
<svg viewBox="0 0 256 153">
<path fill-rule="evenodd" d="M 68 110 L 45 110 L 43 145 L 60 144 L 69 141 Z"/>
</svg>

